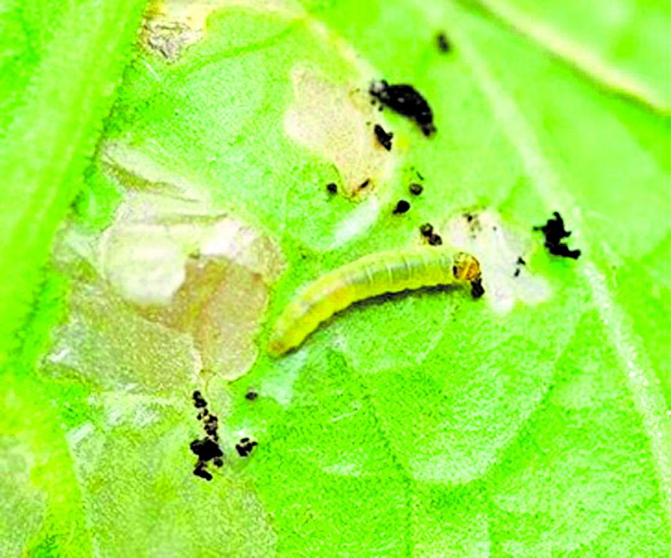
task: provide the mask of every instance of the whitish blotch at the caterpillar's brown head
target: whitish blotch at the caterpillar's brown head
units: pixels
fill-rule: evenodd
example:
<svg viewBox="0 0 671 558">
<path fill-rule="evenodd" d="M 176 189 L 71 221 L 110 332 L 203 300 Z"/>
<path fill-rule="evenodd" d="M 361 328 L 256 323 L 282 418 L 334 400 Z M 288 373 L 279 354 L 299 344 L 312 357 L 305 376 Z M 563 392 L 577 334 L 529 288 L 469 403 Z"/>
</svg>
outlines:
<svg viewBox="0 0 671 558">
<path fill-rule="evenodd" d="M 517 258 L 528 262 L 529 234 L 504 225 L 493 210 L 462 212 L 441 227 L 443 238 L 473 254 L 480 262 L 484 299 L 499 313 L 508 313 L 520 300 L 537 304 L 549 298 L 551 289 L 542 277 L 517 265 Z M 515 277 L 515 271 L 520 273 Z"/>
</svg>

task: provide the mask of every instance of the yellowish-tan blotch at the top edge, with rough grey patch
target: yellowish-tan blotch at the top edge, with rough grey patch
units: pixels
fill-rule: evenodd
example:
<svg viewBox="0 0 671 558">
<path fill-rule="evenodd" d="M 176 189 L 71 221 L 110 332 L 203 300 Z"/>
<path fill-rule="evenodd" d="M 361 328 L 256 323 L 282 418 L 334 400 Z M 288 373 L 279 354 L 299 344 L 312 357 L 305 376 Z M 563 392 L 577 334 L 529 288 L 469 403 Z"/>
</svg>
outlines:
<svg viewBox="0 0 671 558">
<path fill-rule="evenodd" d="M 297 0 L 155 0 L 145 15 L 141 44 L 172 62 L 203 38 L 210 14 L 225 8 L 275 12 L 287 17 L 304 13 Z"/>
</svg>

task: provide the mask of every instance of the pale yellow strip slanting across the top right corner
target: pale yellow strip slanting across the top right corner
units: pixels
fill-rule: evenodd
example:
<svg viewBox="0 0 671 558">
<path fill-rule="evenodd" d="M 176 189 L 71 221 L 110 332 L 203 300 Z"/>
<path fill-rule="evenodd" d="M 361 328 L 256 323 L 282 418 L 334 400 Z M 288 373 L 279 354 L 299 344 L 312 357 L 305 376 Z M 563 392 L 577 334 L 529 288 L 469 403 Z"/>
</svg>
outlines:
<svg viewBox="0 0 671 558">
<path fill-rule="evenodd" d="M 596 50 L 574 41 L 545 21 L 535 19 L 522 10 L 517 10 L 515 6 L 511 6 L 506 1 L 475 0 L 475 2 L 490 15 L 522 35 L 531 37 L 542 48 L 565 60 L 601 86 L 636 100 L 660 113 L 671 112 L 669 100 L 665 99 L 659 91 L 616 66 L 612 66 Z"/>
</svg>

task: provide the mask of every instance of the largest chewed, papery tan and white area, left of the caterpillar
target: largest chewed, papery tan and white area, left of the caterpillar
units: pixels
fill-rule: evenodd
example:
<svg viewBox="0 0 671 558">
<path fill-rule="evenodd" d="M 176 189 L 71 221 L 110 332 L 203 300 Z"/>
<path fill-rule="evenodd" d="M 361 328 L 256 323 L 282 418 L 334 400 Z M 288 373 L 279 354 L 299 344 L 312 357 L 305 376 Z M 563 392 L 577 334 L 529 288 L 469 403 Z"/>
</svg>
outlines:
<svg viewBox="0 0 671 558">
<path fill-rule="evenodd" d="M 138 156 L 111 146 L 107 158 L 134 184 L 120 185 L 101 234 L 62 231 L 54 263 L 73 281 L 71 311 L 46 365 L 110 387 L 172 389 L 203 370 L 239 377 L 257 355 L 279 249 L 166 171 L 120 167 Z"/>
</svg>

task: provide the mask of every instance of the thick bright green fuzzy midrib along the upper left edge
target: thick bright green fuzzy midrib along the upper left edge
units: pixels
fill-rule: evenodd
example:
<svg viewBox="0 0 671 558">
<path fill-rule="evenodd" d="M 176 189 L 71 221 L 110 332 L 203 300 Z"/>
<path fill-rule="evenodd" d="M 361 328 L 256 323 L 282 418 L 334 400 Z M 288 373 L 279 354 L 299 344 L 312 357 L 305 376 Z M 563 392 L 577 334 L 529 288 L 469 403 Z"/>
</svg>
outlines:
<svg viewBox="0 0 671 558">
<path fill-rule="evenodd" d="M 33 303 L 39 268 L 95 147 L 144 5 L 69 3 L 0 145 L 0 362 Z"/>
</svg>

